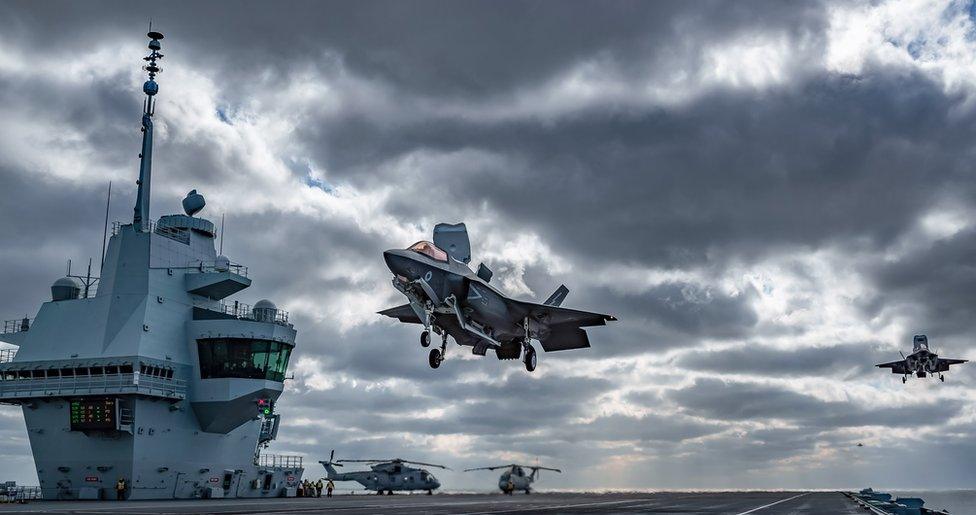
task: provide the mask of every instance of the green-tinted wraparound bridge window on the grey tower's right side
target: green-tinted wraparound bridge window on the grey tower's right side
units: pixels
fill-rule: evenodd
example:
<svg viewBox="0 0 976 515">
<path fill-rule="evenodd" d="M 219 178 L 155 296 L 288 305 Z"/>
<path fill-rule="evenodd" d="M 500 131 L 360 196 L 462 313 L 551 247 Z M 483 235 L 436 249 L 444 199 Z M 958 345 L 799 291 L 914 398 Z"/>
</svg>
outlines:
<svg viewBox="0 0 976 515">
<path fill-rule="evenodd" d="M 237 377 L 284 381 L 292 346 L 250 338 L 197 340 L 200 378 Z"/>
</svg>

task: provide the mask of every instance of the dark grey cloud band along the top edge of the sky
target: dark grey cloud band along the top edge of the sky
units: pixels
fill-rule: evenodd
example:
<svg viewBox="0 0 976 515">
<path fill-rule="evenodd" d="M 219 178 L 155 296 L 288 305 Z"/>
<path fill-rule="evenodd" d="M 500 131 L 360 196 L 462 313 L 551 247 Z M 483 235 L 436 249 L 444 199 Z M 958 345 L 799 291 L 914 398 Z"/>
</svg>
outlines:
<svg viewBox="0 0 976 515">
<path fill-rule="evenodd" d="M 260 63 L 279 69 L 337 51 L 352 71 L 437 97 L 483 97 L 543 81 L 569 66 L 607 54 L 621 69 L 653 69 L 668 52 L 697 58 L 698 45 L 677 40 L 721 41 L 762 27 L 792 37 L 818 37 L 824 13 L 817 4 L 763 1 L 749 5 L 709 1 L 647 4 L 637 1 L 573 3 L 553 9 L 544 1 L 260 2 L 198 5 L 105 2 L 90 9 L 73 2 L 33 9 L 5 6 L 4 24 L 25 45 L 54 51 L 127 34 L 127 27 L 156 27 L 174 48 L 220 75 L 246 74 Z M 112 23 L 103 13 L 111 12 Z M 215 22 L 219 20 L 219 23 Z M 70 23 L 70 33 L 54 30 Z M 176 39 L 178 36 L 178 39 Z"/>
</svg>

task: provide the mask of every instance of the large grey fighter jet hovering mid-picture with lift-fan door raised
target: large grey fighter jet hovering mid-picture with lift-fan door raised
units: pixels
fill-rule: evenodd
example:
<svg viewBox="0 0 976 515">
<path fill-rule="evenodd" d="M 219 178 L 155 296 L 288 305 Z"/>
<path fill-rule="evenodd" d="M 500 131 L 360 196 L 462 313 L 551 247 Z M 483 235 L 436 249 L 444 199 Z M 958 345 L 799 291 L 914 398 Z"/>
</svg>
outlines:
<svg viewBox="0 0 976 515">
<path fill-rule="evenodd" d="M 582 327 L 616 320 L 559 307 L 569 293 L 565 286 L 542 304 L 507 297 L 488 284 L 492 272 L 484 263 L 477 273 L 468 267 L 471 244 L 463 223 L 438 224 L 433 243 L 419 241 L 405 250 L 388 250 L 383 258 L 393 272 L 393 286 L 410 302 L 379 313 L 423 325 L 420 344 L 424 347 L 430 345 L 431 330 L 441 336 L 441 348 L 430 351 L 431 368 L 444 360 L 447 337 L 452 336 L 479 356 L 489 349 L 498 359 L 521 356 L 531 372 L 537 361 L 531 340 L 539 340 L 546 352 L 582 349 L 590 346 Z"/>
</svg>

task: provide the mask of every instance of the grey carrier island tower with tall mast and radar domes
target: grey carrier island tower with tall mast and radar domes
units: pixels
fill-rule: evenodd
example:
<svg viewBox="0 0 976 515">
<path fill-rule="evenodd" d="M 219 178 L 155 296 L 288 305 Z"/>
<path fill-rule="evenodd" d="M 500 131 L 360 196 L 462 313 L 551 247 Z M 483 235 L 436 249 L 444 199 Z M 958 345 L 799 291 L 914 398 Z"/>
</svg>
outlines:
<svg viewBox="0 0 976 515">
<path fill-rule="evenodd" d="M 228 297 L 247 269 L 215 250 L 214 224 L 149 218 L 155 75 L 162 34 L 150 32 L 138 194 L 116 223 L 97 291 L 64 277 L 33 319 L 7 322 L 0 402 L 22 406 L 45 499 L 294 495 L 297 456 L 261 454 L 277 434 L 295 329 L 263 300 Z M 104 246 L 104 245 L 103 245 Z"/>
</svg>

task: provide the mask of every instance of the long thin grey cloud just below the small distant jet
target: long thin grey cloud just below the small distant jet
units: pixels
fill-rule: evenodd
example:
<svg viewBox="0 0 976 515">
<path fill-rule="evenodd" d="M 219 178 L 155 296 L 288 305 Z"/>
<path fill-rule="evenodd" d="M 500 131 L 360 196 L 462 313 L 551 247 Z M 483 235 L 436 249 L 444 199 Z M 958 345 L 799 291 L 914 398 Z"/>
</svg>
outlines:
<svg viewBox="0 0 976 515">
<path fill-rule="evenodd" d="M 824 401 L 776 386 L 719 379 L 698 379 L 667 397 L 691 413 L 716 420 L 782 419 L 824 429 L 940 425 L 963 407 L 956 400 L 865 406 L 853 400 Z"/>
</svg>

